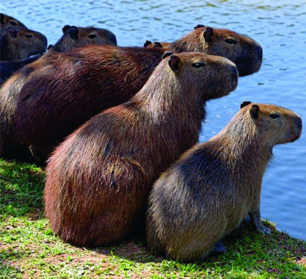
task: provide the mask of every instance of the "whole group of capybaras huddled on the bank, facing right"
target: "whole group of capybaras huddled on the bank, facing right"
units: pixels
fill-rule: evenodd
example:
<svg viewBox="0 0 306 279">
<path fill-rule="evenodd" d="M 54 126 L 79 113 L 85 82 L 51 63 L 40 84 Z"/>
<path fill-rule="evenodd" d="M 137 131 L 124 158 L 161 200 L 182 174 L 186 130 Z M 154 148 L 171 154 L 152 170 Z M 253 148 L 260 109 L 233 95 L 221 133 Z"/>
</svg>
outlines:
<svg viewBox="0 0 306 279">
<path fill-rule="evenodd" d="M 260 69 L 256 41 L 203 25 L 144 47 L 119 47 L 105 29 L 62 31 L 47 50 L 44 35 L 1 13 L 0 155 L 47 160 L 54 232 L 98 246 L 146 224 L 151 251 L 179 261 L 225 251 L 219 241 L 247 215 L 271 233 L 260 221 L 263 173 L 274 145 L 300 137 L 300 117 L 244 101 L 197 144 L 205 103 Z"/>
</svg>

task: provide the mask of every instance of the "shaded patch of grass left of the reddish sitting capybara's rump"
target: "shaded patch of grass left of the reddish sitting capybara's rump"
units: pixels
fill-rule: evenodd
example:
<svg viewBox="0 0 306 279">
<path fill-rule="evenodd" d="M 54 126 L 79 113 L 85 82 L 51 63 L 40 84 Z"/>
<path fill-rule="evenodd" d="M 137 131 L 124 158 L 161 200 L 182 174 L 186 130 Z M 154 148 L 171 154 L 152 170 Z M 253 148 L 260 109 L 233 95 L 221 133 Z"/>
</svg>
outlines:
<svg viewBox="0 0 306 279">
<path fill-rule="evenodd" d="M 20 217 L 42 217 L 44 173 L 35 164 L 0 160 L 1 198 L 0 213 Z"/>
</svg>

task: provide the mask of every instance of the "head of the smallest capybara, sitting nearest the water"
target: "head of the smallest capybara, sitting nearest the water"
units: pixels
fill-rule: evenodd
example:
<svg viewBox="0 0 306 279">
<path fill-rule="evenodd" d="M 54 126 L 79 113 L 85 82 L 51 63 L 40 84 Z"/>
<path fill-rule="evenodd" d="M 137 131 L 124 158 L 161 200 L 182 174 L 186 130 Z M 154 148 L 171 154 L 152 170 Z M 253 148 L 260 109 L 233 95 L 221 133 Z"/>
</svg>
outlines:
<svg viewBox="0 0 306 279">
<path fill-rule="evenodd" d="M 255 127 L 257 134 L 267 146 L 297 140 L 302 132 L 302 119 L 289 109 L 271 104 L 258 104 L 244 101 L 242 114 Z"/>
</svg>

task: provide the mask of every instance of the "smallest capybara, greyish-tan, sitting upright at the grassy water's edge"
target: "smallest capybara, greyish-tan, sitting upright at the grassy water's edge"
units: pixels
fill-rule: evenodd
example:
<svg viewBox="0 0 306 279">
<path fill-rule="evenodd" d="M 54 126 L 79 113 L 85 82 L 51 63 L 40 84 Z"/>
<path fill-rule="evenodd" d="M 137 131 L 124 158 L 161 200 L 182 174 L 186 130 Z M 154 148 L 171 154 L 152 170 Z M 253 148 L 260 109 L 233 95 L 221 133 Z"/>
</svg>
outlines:
<svg viewBox="0 0 306 279">
<path fill-rule="evenodd" d="M 300 137 L 302 120 L 288 109 L 244 102 L 213 138 L 186 151 L 154 183 L 147 211 L 147 244 L 158 254 L 195 261 L 250 215 L 259 232 L 263 173 L 274 145 Z M 214 248 L 215 247 L 215 248 Z"/>
</svg>

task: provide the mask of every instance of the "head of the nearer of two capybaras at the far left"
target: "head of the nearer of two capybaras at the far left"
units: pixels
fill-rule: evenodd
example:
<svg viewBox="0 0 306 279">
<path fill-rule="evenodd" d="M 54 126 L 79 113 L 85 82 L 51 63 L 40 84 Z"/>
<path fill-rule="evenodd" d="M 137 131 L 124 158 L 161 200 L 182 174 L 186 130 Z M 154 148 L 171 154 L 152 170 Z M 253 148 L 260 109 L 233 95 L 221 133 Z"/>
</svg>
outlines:
<svg viewBox="0 0 306 279">
<path fill-rule="evenodd" d="M 6 28 L 1 38 L 1 60 L 19 60 L 47 50 L 47 38 L 29 29 Z"/>
</svg>

